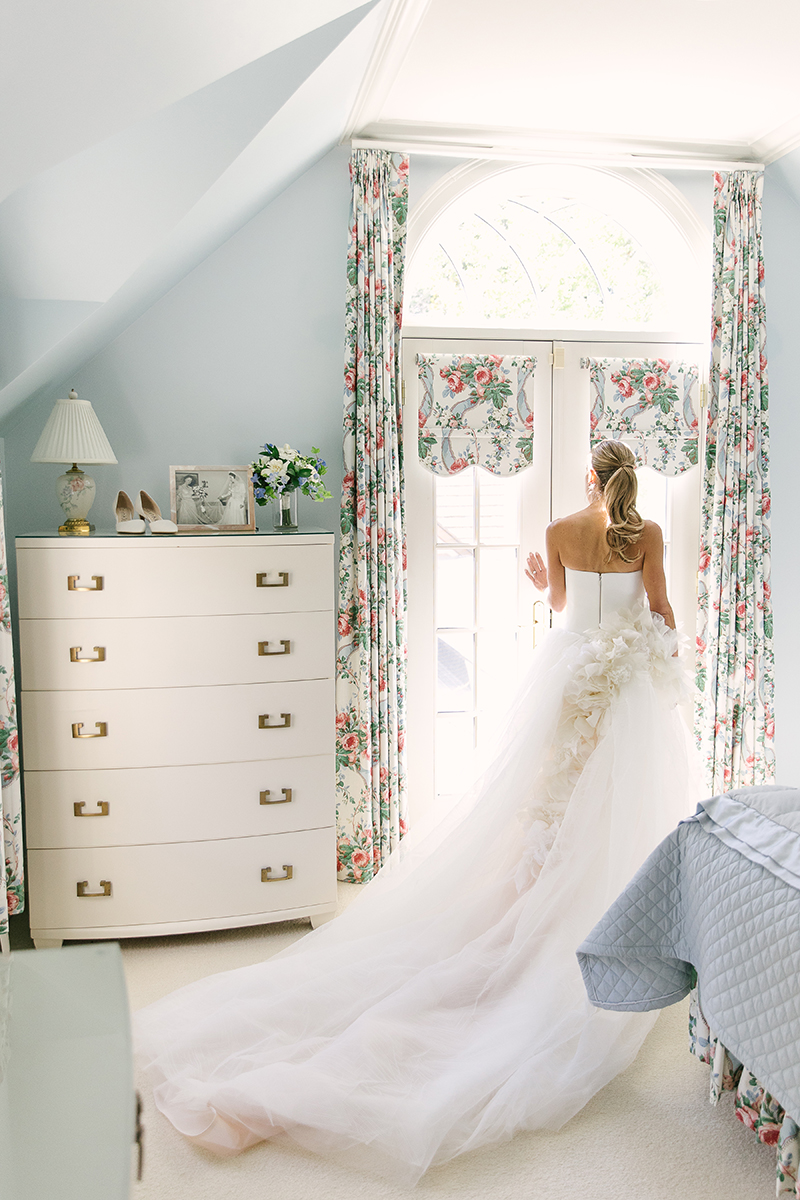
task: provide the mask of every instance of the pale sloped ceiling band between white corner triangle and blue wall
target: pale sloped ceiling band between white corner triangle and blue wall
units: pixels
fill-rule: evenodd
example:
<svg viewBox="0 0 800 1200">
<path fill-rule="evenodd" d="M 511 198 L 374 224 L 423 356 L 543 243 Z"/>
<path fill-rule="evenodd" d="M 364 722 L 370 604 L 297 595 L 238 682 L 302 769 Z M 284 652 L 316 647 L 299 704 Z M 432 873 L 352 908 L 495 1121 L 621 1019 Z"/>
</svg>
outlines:
<svg viewBox="0 0 800 1200">
<path fill-rule="evenodd" d="M 337 144 L 384 10 L 350 8 L 6 198 L 0 419 L 97 353 Z"/>
</svg>

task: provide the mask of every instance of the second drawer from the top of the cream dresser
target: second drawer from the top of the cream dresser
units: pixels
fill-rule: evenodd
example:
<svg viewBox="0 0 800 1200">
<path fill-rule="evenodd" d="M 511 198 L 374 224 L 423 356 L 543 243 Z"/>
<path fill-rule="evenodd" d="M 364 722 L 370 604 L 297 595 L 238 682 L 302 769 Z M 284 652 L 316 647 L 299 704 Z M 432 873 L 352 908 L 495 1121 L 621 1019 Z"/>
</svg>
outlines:
<svg viewBox="0 0 800 1200">
<path fill-rule="evenodd" d="M 333 614 L 20 620 L 28 691 L 327 679 Z"/>
</svg>

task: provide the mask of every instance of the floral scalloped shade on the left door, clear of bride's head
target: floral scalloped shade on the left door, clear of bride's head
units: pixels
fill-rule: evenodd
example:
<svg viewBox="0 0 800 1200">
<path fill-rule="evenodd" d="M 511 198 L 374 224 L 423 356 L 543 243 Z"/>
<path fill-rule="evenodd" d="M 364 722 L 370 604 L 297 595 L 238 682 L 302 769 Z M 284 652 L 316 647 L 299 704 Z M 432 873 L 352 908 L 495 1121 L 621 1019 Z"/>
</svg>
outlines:
<svg viewBox="0 0 800 1200">
<path fill-rule="evenodd" d="M 534 456 L 528 391 L 536 359 L 417 354 L 420 462 L 434 475 L 483 467 L 516 475 Z"/>
</svg>

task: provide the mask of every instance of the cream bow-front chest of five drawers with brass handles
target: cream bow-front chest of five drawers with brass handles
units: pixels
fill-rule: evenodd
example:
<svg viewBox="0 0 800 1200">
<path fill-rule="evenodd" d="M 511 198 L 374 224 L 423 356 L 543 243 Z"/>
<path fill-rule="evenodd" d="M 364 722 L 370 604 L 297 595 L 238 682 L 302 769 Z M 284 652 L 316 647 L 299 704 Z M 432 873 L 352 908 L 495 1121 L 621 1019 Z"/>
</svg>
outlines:
<svg viewBox="0 0 800 1200">
<path fill-rule="evenodd" d="M 327 920 L 333 536 L 18 538 L 31 935 Z"/>
</svg>

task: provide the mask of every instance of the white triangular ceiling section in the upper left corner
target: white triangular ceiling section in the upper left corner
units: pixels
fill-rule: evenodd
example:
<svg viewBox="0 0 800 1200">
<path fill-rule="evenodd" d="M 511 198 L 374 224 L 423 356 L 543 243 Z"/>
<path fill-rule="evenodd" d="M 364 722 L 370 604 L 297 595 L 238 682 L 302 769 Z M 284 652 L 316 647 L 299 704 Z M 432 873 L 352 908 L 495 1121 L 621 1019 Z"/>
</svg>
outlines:
<svg viewBox="0 0 800 1200">
<path fill-rule="evenodd" d="M 359 0 L 5 5 L 0 199 L 55 163 L 359 6 Z"/>
</svg>

